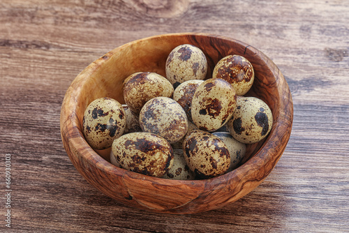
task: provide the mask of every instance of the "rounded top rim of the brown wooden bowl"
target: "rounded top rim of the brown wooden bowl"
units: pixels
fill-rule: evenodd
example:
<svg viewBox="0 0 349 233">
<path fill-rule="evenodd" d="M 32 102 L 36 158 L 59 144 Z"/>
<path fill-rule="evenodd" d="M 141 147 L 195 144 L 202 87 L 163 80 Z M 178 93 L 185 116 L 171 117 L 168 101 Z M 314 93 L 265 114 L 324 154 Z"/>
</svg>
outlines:
<svg viewBox="0 0 349 233">
<path fill-rule="evenodd" d="M 195 37 L 205 36 L 210 38 L 230 40 L 235 43 L 239 43 L 240 45 L 245 46 L 245 52 L 248 50 L 248 52 L 258 53 L 258 56 L 260 57 L 260 59 L 265 61 L 265 63 L 272 65 L 273 70 L 271 71 L 275 77 L 278 77 L 276 82 L 283 82 L 283 89 L 280 89 L 279 85 L 276 85 L 276 88 L 280 96 L 279 98 L 280 107 L 282 107 L 282 110 L 284 111 L 279 112 L 276 119 L 274 119 L 272 130 L 270 131 L 269 135 L 266 137 L 265 142 L 262 144 L 262 146 L 260 146 L 260 149 L 254 154 L 254 156 L 251 156 L 251 158 L 249 158 L 246 161 L 246 163 L 237 167 L 237 169 L 232 170 L 231 172 L 228 172 L 221 176 L 216 176 L 210 179 L 200 179 L 200 180 L 173 180 L 173 179 L 163 179 L 163 178 L 154 177 L 154 176 L 147 176 L 144 174 L 139 174 L 136 172 L 124 170 L 122 168 L 112 165 L 107 160 L 102 158 L 98 153 L 96 153 L 96 151 L 91 149 L 91 147 L 84 140 L 84 136 L 80 130 L 80 126 L 78 125 L 79 122 L 81 121 L 79 119 L 79 116 L 77 116 L 77 114 L 75 113 L 75 110 L 77 108 L 77 105 L 76 105 L 77 100 L 75 97 L 78 96 L 80 94 L 80 91 L 82 90 L 82 87 L 78 87 L 77 84 L 79 82 L 84 81 L 89 77 L 89 75 L 96 72 L 98 67 L 102 66 L 103 63 L 105 62 L 106 56 L 112 57 L 113 54 L 119 52 L 120 50 L 124 50 L 124 48 L 130 45 L 133 45 L 135 43 L 139 43 L 142 40 L 159 39 L 163 36 L 195 36 Z M 284 98 L 285 94 L 288 95 L 288 98 Z M 285 100 L 287 100 L 287 102 L 285 102 Z M 68 114 L 66 110 L 64 110 L 65 106 L 68 106 L 71 112 L 75 114 L 71 114 L 71 112 L 70 114 Z M 78 159 L 80 161 L 83 161 L 83 163 L 89 163 L 91 167 L 96 167 L 96 169 L 98 170 L 101 170 L 107 173 L 112 173 L 115 176 L 122 176 L 122 178 L 124 178 L 124 176 L 132 176 L 135 179 L 144 179 L 154 183 L 163 183 L 163 180 L 166 180 L 167 186 L 180 186 L 182 184 L 185 184 L 186 186 L 206 186 L 207 183 L 210 183 L 212 185 L 210 186 L 214 187 L 218 183 L 221 186 L 222 182 L 224 182 L 225 185 L 228 185 L 228 183 L 231 182 L 230 180 L 232 179 L 232 177 L 237 177 L 237 180 L 235 180 L 235 182 L 238 182 L 246 174 L 255 172 L 255 170 L 259 170 L 260 168 L 264 167 L 267 163 L 271 163 L 272 161 L 272 163 L 274 163 L 272 165 L 272 169 L 265 171 L 265 174 L 262 176 L 262 179 L 260 180 L 260 182 L 262 182 L 267 177 L 267 175 L 270 172 L 272 172 L 274 166 L 276 165 L 277 161 L 279 160 L 283 151 L 285 150 L 285 146 L 290 138 L 290 131 L 292 129 L 292 118 L 293 118 L 293 104 L 292 104 L 292 96 L 291 96 L 288 84 L 285 78 L 283 77 L 283 75 L 281 74 L 281 71 L 279 70 L 279 68 L 277 68 L 274 62 L 271 59 L 269 59 L 264 53 L 260 52 L 260 50 L 257 50 L 251 45 L 247 45 L 242 41 L 228 38 L 225 36 L 218 36 L 211 33 L 167 33 L 167 34 L 161 34 L 157 36 L 149 36 L 147 38 L 141 38 L 138 40 L 133 40 L 129 43 L 116 47 L 110 52 L 107 52 L 103 57 L 90 63 L 89 66 L 84 68 L 84 70 L 82 70 L 81 73 L 78 74 L 77 77 L 75 77 L 73 82 L 70 84 L 64 96 L 64 100 L 61 106 L 60 129 L 61 129 L 61 139 L 64 142 L 64 148 L 66 149 L 66 152 L 68 153 L 68 156 L 75 167 L 77 164 L 74 163 L 70 155 L 70 153 L 72 153 L 72 150 L 75 151 L 75 153 L 79 157 Z M 281 123 L 281 121 L 283 121 L 283 123 Z M 279 130 L 282 130 L 283 132 L 281 134 L 280 133 L 276 134 L 276 132 L 279 132 Z M 283 146 L 283 148 L 281 148 L 281 151 L 280 151 L 280 148 L 275 148 L 275 147 L 277 145 L 277 142 L 280 141 L 281 139 L 285 140 L 286 143 Z M 81 146 L 81 145 L 84 145 L 84 146 Z M 269 148 L 269 150 L 267 150 L 267 148 Z M 98 187 L 96 186 L 96 188 Z M 103 192 L 103 190 L 101 191 Z"/>
</svg>

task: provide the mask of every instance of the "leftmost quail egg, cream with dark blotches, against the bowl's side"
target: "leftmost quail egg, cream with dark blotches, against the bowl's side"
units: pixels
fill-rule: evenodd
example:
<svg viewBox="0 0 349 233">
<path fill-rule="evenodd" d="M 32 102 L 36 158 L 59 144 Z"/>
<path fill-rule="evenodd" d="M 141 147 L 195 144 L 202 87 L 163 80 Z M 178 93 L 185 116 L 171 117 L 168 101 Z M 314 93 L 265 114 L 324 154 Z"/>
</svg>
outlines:
<svg viewBox="0 0 349 233">
<path fill-rule="evenodd" d="M 126 128 L 124 107 L 112 98 L 98 98 L 84 111 L 82 132 L 93 149 L 107 149 Z"/>
</svg>

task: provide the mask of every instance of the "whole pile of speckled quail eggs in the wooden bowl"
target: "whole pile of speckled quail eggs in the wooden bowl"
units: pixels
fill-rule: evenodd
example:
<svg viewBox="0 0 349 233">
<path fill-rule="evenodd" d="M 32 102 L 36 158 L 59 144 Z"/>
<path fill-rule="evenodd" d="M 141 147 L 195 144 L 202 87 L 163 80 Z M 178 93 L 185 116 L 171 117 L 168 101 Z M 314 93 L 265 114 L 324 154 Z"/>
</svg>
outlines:
<svg viewBox="0 0 349 233">
<path fill-rule="evenodd" d="M 270 132 L 268 105 L 244 97 L 255 76 L 244 57 L 224 57 L 206 79 L 202 50 L 179 45 L 165 73 L 134 73 L 123 83 L 125 105 L 105 97 L 85 110 L 84 137 L 93 149 L 112 146 L 112 164 L 166 179 L 208 179 L 237 168 L 246 144 Z"/>
</svg>

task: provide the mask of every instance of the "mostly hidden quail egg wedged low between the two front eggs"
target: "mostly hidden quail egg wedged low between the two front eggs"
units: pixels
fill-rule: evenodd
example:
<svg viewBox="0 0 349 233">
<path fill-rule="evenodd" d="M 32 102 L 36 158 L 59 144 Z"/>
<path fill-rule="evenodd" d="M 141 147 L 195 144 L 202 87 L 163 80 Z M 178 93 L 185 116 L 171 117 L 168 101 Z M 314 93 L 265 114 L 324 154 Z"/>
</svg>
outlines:
<svg viewBox="0 0 349 233">
<path fill-rule="evenodd" d="M 186 164 L 182 149 L 173 149 L 173 165 L 168 170 L 163 178 L 177 180 L 192 180 L 195 179 L 195 174 Z"/>
</svg>

